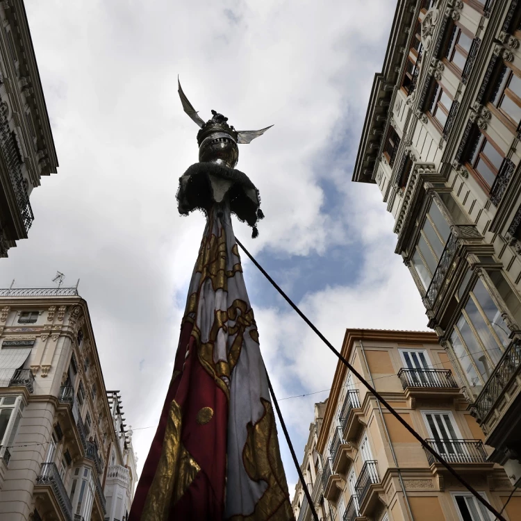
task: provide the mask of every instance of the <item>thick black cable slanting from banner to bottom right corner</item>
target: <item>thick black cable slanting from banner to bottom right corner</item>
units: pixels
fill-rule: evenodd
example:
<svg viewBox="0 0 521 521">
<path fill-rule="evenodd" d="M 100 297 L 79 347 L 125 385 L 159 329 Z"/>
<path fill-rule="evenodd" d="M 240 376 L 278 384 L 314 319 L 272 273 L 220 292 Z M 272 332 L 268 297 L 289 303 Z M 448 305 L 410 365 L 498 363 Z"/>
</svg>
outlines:
<svg viewBox="0 0 521 521">
<path fill-rule="evenodd" d="M 268 281 L 270 281 L 270 283 L 272 284 L 272 286 L 279 292 L 279 294 L 281 295 L 281 297 L 283 297 L 283 299 L 285 299 L 288 304 L 290 304 L 290 306 L 295 310 L 295 312 L 301 317 L 302 320 L 304 320 L 304 322 L 306 322 L 306 324 L 308 324 L 308 326 L 311 327 L 311 329 L 313 329 L 313 331 L 317 334 L 317 336 L 322 340 L 322 342 L 324 342 L 324 344 L 329 347 L 329 349 L 331 350 L 331 352 L 333 352 L 333 354 L 335 354 L 337 356 L 337 358 L 358 378 L 359 381 L 361 381 L 363 383 L 363 385 L 365 386 L 365 388 L 367 388 L 367 390 L 369 390 L 372 395 L 374 395 L 374 397 L 376 397 L 379 402 L 381 402 L 381 404 L 383 404 L 383 406 L 385 406 L 387 408 L 387 410 L 399 421 L 400 424 L 402 424 L 402 426 L 407 429 L 407 431 L 409 431 L 422 445 L 422 447 L 424 447 L 424 449 L 429 452 L 430 454 L 432 454 L 470 493 L 472 493 L 472 495 L 481 503 L 483 504 L 483 506 L 485 506 L 485 508 L 490 511 L 491 513 L 493 513 L 493 515 L 496 516 L 497 520 L 499 521 L 506 521 L 505 518 L 503 518 L 503 516 L 488 502 L 486 501 L 485 498 L 483 498 L 478 492 L 477 490 L 475 490 L 471 485 L 470 483 L 468 483 L 467 481 L 465 481 L 465 479 L 463 479 L 463 477 L 461 477 L 458 472 L 456 472 L 456 470 L 454 470 L 454 468 L 452 468 L 451 465 L 449 465 L 449 463 L 447 463 L 447 461 L 445 461 L 444 458 L 442 458 L 442 456 L 440 456 L 440 454 L 438 454 L 438 452 L 436 452 L 421 436 L 420 434 L 418 434 L 403 418 L 402 416 L 400 416 L 397 411 L 395 411 L 394 408 L 392 408 L 392 406 L 390 406 L 390 404 L 388 404 L 388 402 L 386 401 L 386 399 L 384 399 L 380 393 L 374 389 L 370 383 L 368 383 L 367 381 L 365 381 L 365 379 L 362 377 L 362 375 L 360 373 L 358 373 L 358 371 L 349 363 L 349 361 L 347 361 L 347 359 L 342 356 L 342 354 L 340 354 L 340 352 L 338 352 L 337 349 L 335 349 L 335 347 L 331 344 L 331 342 L 329 342 L 329 340 L 327 340 L 327 338 L 322 335 L 322 333 L 317 329 L 317 327 L 313 324 L 313 322 L 311 322 L 311 320 L 308 319 L 308 317 L 306 317 L 306 315 L 304 315 L 304 313 L 302 313 L 300 311 L 300 309 L 297 307 L 297 305 L 290 299 L 290 297 L 288 297 L 288 295 L 286 295 L 285 292 L 283 292 L 283 290 L 279 287 L 279 285 L 271 278 L 271 276 L 269 274 L 267 274 L 267 272 L 264 270 L 264 268 L 255 260 L 254 256 L 252 256 L 249 251 L 242 245 L 242 242 L 240 242 L 240 240 L 238 240 L 237 237 L 235 237 L 235 241 L 237 242 L 237 244 L 240 246 L 240 248 L 242 249 L 242 251 L 245 252 L 245 254 L 249 257 L 250 261 L 252 263 L 254 263 L 254 265 L 256 265 L 256 267 L 258 268 L 258 270 L 266 277 L 266 279 Z"/>
</svg>

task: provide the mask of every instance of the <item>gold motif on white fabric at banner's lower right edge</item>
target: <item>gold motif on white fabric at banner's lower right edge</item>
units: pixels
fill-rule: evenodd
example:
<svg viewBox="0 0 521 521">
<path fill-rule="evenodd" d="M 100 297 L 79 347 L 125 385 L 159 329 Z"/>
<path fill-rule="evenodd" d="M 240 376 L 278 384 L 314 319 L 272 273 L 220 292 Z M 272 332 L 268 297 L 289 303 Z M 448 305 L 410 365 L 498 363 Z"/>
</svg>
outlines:
<svg viewBox="0 0 521 521">
<path fill-rule="evenodd" d="M 264 415 L 255 425 L 247 425 L 248 436 L 242 451 L 246 472 L 253 481 L 265 481 L 267 489 L 250 515 L 233 515 L 228 521 L 288 521 L 295 516 L 290 504 L 286 474 L 277 443 L 272 404 L 261 398 Z"/>
</svg>

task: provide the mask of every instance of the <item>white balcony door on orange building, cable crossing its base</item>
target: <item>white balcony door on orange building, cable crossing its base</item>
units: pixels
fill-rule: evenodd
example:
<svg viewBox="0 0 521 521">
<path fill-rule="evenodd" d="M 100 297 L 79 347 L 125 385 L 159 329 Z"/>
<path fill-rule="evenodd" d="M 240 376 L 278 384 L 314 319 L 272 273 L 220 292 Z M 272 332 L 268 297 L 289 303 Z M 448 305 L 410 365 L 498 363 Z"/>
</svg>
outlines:
<svg viewBox="0 0 521 521">
<path fill-rule="evenodd" d="M 450 411 L 422 411 L 429 433 L 434 440 L 434 449 L 447 461 L 461 461 L 465 447 L 461 433 Z"/>
</svg>

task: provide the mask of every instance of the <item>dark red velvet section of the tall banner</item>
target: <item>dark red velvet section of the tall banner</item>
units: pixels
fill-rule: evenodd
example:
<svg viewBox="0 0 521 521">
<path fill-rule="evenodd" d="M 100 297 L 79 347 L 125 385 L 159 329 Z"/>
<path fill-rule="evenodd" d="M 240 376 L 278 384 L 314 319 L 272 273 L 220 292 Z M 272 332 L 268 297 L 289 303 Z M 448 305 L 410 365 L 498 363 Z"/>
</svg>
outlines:
<svg viewBox="0 0 521 521">
<path fill-rule="evenodd" d="M 182 372 L 170 383 L 156 436 L 135 491 L 129 521 L 141 520 L 147 494 L 160 460 L 169 408 L 173 399 L 182 411 L 181 441 L 201 470 L 183 497 L 176 504 L 170 505 L 168 519 L 222 520 L 228 399 L 199 362 L 196 341 L 191 333 L 192 324 L 185 322 L 174 363 L 174 372 Z M 187 345 L 190 346 L 190 354 L 185 359 Z M 207 424 L 200 425 L 196 417 L 203 407 L 211 407 L 213 417 Z"/>
</svg>

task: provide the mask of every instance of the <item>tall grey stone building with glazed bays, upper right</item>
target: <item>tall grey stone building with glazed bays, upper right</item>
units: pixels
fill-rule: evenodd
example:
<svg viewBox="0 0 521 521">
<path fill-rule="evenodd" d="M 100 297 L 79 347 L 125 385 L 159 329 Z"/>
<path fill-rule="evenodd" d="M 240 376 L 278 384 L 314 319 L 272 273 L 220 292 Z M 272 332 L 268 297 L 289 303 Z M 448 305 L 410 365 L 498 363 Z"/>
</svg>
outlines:
<svg viewBox="0 0 521 521">
<path fill-rule="evenodd" d="M 353 181 L 455 361 L 491 461 L 521 484 L 521 1 L 399 0 Z"/>
</svg>

